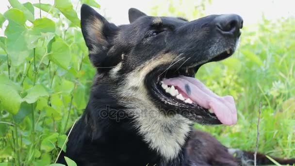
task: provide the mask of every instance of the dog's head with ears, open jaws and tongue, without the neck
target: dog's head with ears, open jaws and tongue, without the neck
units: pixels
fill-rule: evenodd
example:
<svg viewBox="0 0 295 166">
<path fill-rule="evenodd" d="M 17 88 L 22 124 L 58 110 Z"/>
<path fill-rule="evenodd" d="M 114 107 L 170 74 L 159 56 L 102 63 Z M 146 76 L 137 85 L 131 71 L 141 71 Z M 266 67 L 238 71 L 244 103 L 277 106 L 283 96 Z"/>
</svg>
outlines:
<svg viewBox="0 0 295 166">
<path fill-rule="evenodd" d="M 217 96 L 194 76 L 201 65 L 233 54 L 243 27 L 240 16 L 187 21 L 151 17 L 131 8 L 129 20 L 128 25 L 116 26 L 82 6 L 82 33 L 90 61 L 101 80 L 107 78 L 118 87 L 114 94 L 119 100 L 202 124 L 236 123 L 232 97 Z"/>
</svg>

